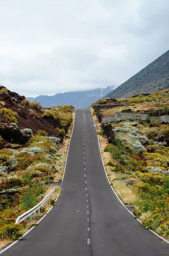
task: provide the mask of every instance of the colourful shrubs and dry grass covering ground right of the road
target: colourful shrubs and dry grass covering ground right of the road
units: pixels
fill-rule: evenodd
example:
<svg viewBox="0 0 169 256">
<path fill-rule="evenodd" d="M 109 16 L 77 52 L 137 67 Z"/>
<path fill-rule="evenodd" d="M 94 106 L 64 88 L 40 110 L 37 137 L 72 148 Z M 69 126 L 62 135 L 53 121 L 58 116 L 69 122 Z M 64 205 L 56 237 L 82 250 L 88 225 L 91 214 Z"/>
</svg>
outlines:
<svg viewBox="0 0 169 256">
<path fill-rule="evenodd" d="M 130 101 L 135 110 L 146 105 L 149 111 L 151 99 L 153 110 L 158 111 L 154 102 L 159 97 L 163 102 L 162 112 L 169 111 L 169 90 L 118 101 Z M 106 172 L 115 191 L 124 204 L 134 206 L 133 214 L 143 226 L 169 239 L 169 124 L 160 125 L 147 119 L 101 125 L 93 108 L 92 113 Z M 113 134 L 111 143 L 106 126 Z"/>
</svg>

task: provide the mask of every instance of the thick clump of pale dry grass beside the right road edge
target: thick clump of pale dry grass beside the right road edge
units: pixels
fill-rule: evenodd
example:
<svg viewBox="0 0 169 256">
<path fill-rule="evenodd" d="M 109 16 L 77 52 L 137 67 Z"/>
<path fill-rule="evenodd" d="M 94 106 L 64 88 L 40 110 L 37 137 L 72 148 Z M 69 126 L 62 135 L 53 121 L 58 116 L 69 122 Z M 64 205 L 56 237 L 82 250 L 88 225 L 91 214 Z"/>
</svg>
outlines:
<svg viewBox="0 0 169 256">
<path fill-rule="evenodd" d="M 136 195 L 132 189 L 126 186 L 125 183 L 122 183 L 119 180 L 113 182 L 113 188 L 117 192 L 117 195 L 122 199 L 124 204 L 135 205 L 136 204 Z"/>
</svg>

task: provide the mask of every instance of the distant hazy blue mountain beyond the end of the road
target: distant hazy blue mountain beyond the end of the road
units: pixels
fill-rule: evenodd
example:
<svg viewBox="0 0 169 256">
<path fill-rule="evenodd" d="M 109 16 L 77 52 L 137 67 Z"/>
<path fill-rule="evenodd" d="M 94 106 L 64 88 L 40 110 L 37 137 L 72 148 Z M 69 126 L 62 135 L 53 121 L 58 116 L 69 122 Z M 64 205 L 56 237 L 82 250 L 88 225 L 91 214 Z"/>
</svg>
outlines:
<svg viewBox="0 0 169 256">
<path fill-rule="evenodd" d="M 107 93 L 112 91 L 113 86 L 106 88 L 97 88 L 94 90 L 74 91 L 66 93 L 57 93 L 53 96 L 40 95 L 36 98 L 27 97 L 32 102 L 37 100 L 43 107 L 51 107 L 56 105 L 73 105 L 75 108 L 88 108 L 92 102 L 103 98 Z"/>
</svg>

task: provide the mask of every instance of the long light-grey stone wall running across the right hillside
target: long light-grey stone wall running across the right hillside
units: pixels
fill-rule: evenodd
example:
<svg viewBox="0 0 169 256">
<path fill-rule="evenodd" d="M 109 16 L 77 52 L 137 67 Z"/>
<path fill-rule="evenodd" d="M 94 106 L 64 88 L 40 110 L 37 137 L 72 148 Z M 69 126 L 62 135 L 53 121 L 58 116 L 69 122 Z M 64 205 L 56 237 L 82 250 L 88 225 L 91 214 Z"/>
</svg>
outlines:
<svg viewBox="0 0 169 256">
<path fill-rule="evenodd" d="M 130 112 L 115 112 L 114 116 L 102 116 L 102 124 L 109 123 L 109 122 L 118 122 L 118 121 L 125 121 L 125 120 L 146 120 L 151 119 L 152 121 L 159 121 L 159 117 L 149 116 L 148 114 L 139 114 L 139 113 L 130 113 Z M 161 116 L 161 122 L 168 123 L 169 116 Z"/>
</svg>

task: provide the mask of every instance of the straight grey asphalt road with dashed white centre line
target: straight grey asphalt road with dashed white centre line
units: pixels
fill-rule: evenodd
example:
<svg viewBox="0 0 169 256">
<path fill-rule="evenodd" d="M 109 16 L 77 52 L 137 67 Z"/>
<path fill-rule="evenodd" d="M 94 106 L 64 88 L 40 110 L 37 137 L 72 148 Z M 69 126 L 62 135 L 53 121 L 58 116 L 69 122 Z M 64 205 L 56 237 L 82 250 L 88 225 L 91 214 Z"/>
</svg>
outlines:
<svg viewBox="0 0 169 256">
<path fill-rule="evenodd" d="M 146 230 L 107 180 L 89 109 L 77 109 L 62 192 L 37 227 L 3 256 L 166 256 L 169 244 Z"/>
</svg>

